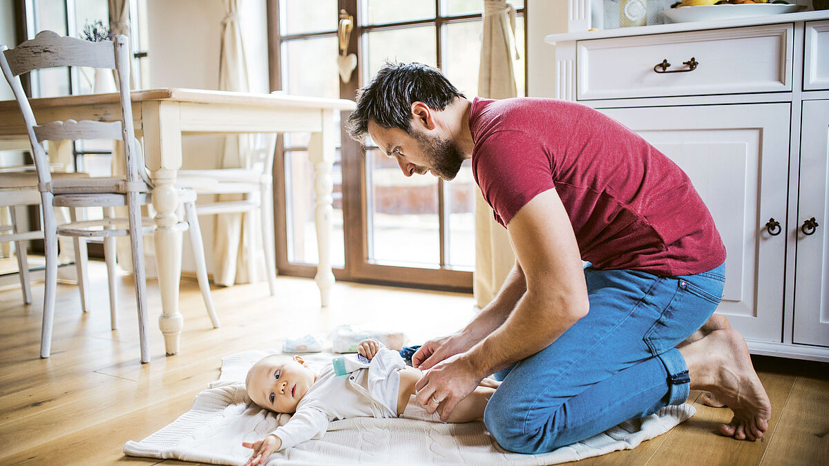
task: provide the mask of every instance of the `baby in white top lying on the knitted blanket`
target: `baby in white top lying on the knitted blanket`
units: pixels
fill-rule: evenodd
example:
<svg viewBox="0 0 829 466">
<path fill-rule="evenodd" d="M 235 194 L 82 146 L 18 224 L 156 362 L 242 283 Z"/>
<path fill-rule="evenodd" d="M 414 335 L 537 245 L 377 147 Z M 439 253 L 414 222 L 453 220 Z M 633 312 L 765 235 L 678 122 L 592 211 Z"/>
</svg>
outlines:
<svg viewBox="0 0 829 466">
<path fill-rule="evenodd" d="M 331 363 L 316 372 L 302 357 L 283 354 L 264 357 L 250 368 L 245 380 L 250 399 L 261 408 L 292 416 L 264 439 L 242 444 L 254 450 L 245 466 L 263 464 L 275 451 L 322 438 L 332 420 L 401 417 L 441 422 L 443 405 L 429 414 L 418 403 L 414 385 L 421 372 L 406 366 L 399 352 L 369 338 L 360 342 L 357 353 L 370 362 L 342 376 L 337 376 Z M 458 403 L 448 422 L 482 419 L 497 384 L 484 379 Z"/>
</svg>

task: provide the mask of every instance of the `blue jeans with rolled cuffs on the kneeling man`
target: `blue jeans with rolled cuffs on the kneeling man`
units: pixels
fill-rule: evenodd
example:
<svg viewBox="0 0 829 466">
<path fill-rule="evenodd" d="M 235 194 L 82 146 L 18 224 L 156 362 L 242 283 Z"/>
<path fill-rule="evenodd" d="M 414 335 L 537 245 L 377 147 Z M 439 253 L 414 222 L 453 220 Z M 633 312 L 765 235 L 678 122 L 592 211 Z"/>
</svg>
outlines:
<svg viewBox="0 0 829 466">
<path fill-rule="evenodd" d="M 675 347 L 714 313 L 725 266 L 679 277 L 588 267 L 584 278 L 587 316 L 498 374 L 483 420 L 505 449 L 549 452 L 688 398 Z"/>
</svg>

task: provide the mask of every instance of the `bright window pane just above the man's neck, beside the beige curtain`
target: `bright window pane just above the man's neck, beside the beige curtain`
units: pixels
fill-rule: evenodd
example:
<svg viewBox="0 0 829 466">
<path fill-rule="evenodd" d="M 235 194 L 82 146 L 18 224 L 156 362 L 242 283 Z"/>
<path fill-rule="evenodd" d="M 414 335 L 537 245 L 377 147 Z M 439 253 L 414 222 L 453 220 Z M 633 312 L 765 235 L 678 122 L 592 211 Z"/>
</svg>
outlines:
<svg viewBox="0 0 829 466">
<path fill-rule="evenodd" d="M 478 95 L 478 67 L 481 63 L 481 21 L 444 25 L 441 68 L 463 95 Z"/>
</svg>

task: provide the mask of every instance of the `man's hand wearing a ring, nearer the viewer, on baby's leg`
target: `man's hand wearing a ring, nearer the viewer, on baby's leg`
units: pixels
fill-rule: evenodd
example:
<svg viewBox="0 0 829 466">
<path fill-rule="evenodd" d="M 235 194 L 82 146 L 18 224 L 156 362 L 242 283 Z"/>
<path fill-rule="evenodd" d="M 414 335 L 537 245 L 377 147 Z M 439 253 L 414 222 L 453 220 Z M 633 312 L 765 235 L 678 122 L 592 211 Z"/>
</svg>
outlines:
<svg viewBox="0 0 829 466">
<path fill-rule="evenodd" d="M 417 400 L 429 414 L 443 405 L 440 420 L 444 422 L 460 400 L 475 391 L 484 375 L 478 375 L 465 354 L 457 354 L 439 362 L 414 385 Z"/>
</svg>

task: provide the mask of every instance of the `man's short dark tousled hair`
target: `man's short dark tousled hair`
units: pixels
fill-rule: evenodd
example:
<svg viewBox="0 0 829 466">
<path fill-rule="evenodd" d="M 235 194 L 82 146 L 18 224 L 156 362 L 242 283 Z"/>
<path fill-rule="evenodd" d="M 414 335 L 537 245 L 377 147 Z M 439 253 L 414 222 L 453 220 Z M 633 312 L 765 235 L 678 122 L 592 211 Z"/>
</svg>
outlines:
<svg viewBox="0 0 829 466">
<path fill-rule="evenodd" d="M 385 63 L 368 85 L 357 91 L 357 108 L 348 117 L 348 135 L 362 142 L 368 122 L 383 128 L 411 130 L 411 104 L 423 102 L 443 110 L 463 94 L 439 70 L 420 63 Z"/>
</svg>

